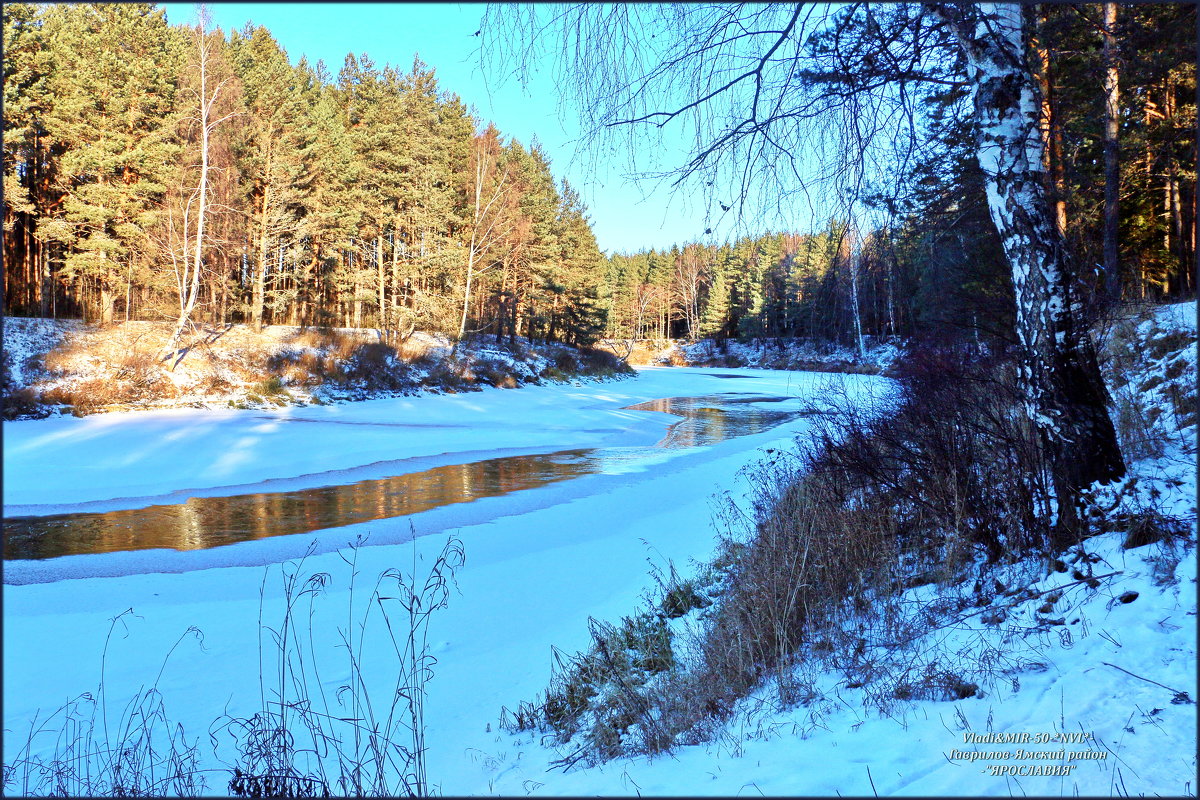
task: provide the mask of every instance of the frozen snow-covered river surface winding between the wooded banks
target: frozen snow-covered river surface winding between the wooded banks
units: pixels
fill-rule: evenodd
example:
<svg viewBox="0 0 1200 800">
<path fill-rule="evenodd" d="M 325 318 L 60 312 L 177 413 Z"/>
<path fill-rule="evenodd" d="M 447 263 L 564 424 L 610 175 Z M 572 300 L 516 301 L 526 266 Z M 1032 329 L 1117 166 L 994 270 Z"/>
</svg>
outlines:
<svg viewBox="0 0 1200 800">
<path fill-rule="evenodd" d="M 347 679 L 338 630 L 354 602 L 337 551 L 366 536 L 368 547 L 359 551 L 355 569 L 360 581 L 373 584 L 389 567 L 428 563 L 454 535 L 466 565 L 430 633 L 438 658 L 425 711 L 430 776 L 444 794 L 487 792 L 499 754 L 492 751 L 508 748 L 496 733 L 502 705 L 515 706 L 545 686 L 551 646 L 570 651 L 584 645 L 589 616 L 629 613 L 650 583 L 647 561 L 686 569 L 690 558 L 707 557 L 714 546 L 714 497 L 745 493 L 739 470 L 802 431 L 802 413 L 828 381 L 851 396 L 883 385 L 860 375 L 661 368 L 607 384 L 270 414 L 180 409 L 5 423 L 6 517 L 302 497 L 468 463 L 491 462 L 498 475 L 494 459 L 510 457 L 548 458 L 559 464 L 556 469 L 571 473 L 426 510 L 384 509 L 356 521 L 314 518 L 306 533 L 220 547 L 203 542 L 200 522 L 190 529 L 176 519 L 169 546 L 8 560 L 5 752 L 24 742 L 35 714 L 44 718 L 66 698 L 96 691 L 110 620 L 132 609 L 106 655 L 109 714 L 118 715 L 125 699 L 154 682 L 161 669 L 157 687 L 167 712 L 199 741 L 202 764 L 228 764 L 233 753 L 212 752 L 206 733 L 222 712 L 248 715 L 260 708 L 260 603 L 264 621 L 274 621 L 280 563 L 311 549 L 295 569 L 330 575 L 311 625 L 317 640 L 329 644 L 322 649 L 328 660 L 323 681 L 336 686 Z M 668 413 L 670 403 L 642 405 L 662 398 L 703 399 L 684 403 L 692 413 L 680 423 Z M 677 404 L 673 410 L 682 409 Z M 757 422 L 743 419 L 730 426 L 739 414 Z M 706 415 L 710 425 L 689 427 Z M 704 433 L 722 426 L 738 435 Z M 662 444 L 672 446 L 655 446 Z M 474 480 L 458 475 L 439 492 L 461 492 Z M 348 505 L 359 509 L 354 513 L 364 507 Z M 247 527 L 264 528 L 271 527 L 274 513 L 265 501 L 236 512 Z M 178 539 L 188 530 L 196 534 L 196 549 Z M 203 644 L 186 637 L 172 651 L 190 628 L 203 632 Z M 386 663 L 389 649 L 383 640 L 367 642 L 362 657 Z M 372 691 L 386 694 L 385 668 L 378 680 Z M 222 781 L 212 778 L 209 792 L 226 793 Z"/>
</svg>

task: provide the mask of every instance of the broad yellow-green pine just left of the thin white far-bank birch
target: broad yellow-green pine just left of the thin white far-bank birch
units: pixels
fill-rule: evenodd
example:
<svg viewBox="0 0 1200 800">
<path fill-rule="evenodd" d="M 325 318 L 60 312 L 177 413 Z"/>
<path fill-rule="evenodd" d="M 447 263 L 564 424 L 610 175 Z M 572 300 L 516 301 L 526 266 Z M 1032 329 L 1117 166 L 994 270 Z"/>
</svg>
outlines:
<svg viewBox="0 0 1200 800">
<path fill-rule="evenodd" d="M 40 227 L 66 249 L 62 275 L 94 287 L 100 320 L 112 323 L 167 191 L 164 166 L 178 158 L 178 55 L 151 4 L 52 6 L 44 34 L 61 213 Z"/>
</svg>

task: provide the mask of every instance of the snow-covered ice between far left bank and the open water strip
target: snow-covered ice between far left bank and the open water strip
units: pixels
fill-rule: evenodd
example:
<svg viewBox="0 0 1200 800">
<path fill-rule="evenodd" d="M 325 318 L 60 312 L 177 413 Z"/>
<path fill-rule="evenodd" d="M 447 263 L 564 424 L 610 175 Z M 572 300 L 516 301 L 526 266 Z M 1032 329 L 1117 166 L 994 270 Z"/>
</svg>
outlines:
<svg viewBox="0 0 1200 800">
<path fill-rule="evenodd" d="M 10 422 L 5 513 L 55 513 L 101 500 L 109 500 L 104 509 L 140 507 L 196 489 L 236 494 L 265 480 L 295 479 L 278 488 L 341 483 L 349 470 L 380 462 L 425 458 L 424 469 L 431 457 L 452 463 L 446 458 L 479 452 L 653 443 L 668 417 L 620 407 L 685 391 L 686 378 L 698 374 L 648 369 L 637 381 L 516 392 L 487 387 L 253 413 L 167 409 Z M 775 391 L 786 378 L 744 380 L 738 390 Z M 793 379 L 793 390 L 811 383 Z M 716 380 L 704 385 L 731 389 Z M 390 474 L 407 471 L 414 469 Z"/>
</svg>

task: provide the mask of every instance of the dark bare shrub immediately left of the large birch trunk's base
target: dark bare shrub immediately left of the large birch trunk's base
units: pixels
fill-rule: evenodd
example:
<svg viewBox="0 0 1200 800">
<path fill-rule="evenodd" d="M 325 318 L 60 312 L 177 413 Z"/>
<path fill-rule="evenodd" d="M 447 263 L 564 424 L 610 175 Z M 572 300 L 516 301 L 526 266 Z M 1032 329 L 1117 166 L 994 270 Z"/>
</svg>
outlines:
<svg viewBox="0 0 1200 800">
<path fill-rule="evenodd" d="M 883 492 L 905 517 L 910 546 L 940 553 L 982 548 L 990 561 L 1049 543 L 1048 467 L 1020 413 L 1014 365 L 967 362 L 919 350 L 898 369 L 895 413 L 875 420 L 847 408 L 815 421 L 814 467 L 852 489 Z M 953 572 L 955 561 L 947 561 Z"/>
</svg>

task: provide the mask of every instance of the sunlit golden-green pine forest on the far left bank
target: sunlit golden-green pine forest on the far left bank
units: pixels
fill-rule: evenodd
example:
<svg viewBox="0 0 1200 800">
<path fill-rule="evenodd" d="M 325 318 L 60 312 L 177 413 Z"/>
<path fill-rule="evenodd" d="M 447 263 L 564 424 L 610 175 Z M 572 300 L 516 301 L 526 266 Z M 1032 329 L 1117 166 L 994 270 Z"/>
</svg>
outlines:
<svg viewBox="0 0 1200 800">
<path fill-rule="evenodd" d="M 602 329 L 578 196 L 419 60 L 335 77 L 260 26 L 6 4 L 4 74 L 7 313 Z"/>
</svg>

